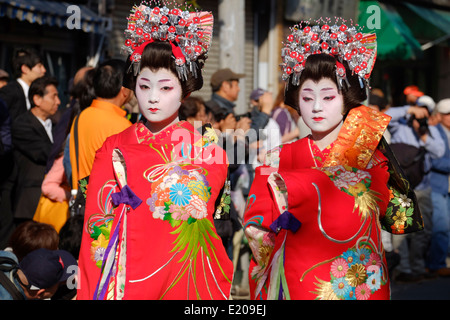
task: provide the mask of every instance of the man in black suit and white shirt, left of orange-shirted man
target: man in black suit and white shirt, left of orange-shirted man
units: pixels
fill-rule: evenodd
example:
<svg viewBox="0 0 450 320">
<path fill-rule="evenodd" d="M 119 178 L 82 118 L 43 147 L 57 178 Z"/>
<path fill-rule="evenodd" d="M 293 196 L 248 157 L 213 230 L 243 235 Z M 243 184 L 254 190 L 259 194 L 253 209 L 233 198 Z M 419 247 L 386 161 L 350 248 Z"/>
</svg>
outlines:
<svg viewBox="0 0 450 320">
<path fill-rule="evenodd" d="M 14 201 L 16 223 L 32 219 L 41 195 L 41 185 L 53 145 L 52 122 L 61 101 L 58 83 L 51 77 L 38 78 L 30 86 L 31 109 L 12 125 L 14 160 L 18 168 Z"/>
</svg>

